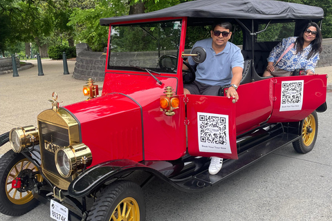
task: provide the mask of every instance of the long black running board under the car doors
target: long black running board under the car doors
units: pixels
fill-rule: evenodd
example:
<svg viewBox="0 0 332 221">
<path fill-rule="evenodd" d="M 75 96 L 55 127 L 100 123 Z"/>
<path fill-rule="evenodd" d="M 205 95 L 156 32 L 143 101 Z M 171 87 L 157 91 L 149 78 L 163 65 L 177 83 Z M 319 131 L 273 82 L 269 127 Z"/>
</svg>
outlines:
<svg viewBox="0 0 332 221">
<path fill-rule="evenodd" d="M 277 135 L 276 137 L 273 137 L 266 142 L 262 142 L 261 144 L 258 144 L 257 146 L 254 146 L 247 151 L 240 153 L 238 160 L 224 160 L 221 171 L 219 171 L 219 173 L 216 175 L 210 175 L 207 168 L 205 171 L 197 175 L 188 177 L 188 179 L 184 179 L 179 182 L 174 180 L 172 184 L 175 184 L 174 186 L 176 186 L 178 189 L 188 192 L 204 189 L 205 187 L 212 186 L 213 184 L 216 184 L 217 182 L 230 177 L 230 175 L 241 171 L 241 169 L 261 159 L 261 157 L 272 153 L 282 146 L 291 144 L 300 138 L 301 137 L 299 135 L 290 133 Z"/>
</svg>

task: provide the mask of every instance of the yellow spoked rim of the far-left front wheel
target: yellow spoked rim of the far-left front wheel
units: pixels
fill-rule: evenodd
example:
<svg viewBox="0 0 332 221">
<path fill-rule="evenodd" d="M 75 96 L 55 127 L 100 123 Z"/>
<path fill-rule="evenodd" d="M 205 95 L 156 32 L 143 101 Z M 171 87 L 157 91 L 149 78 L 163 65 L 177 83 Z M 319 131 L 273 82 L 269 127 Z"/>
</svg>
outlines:
<svg viewBox="0 0 332 221">
<path fill-rule="evenodd" d="M 12 188 L 12 180 L 15 180 L 17 175 L 19 175 L 19 172 L 24 169 L 30 169 L 32 171 L 38 171 L 37 167 L 28 161 L 28 159 L 23 159 L 17 162 L 14 166 L 12 166 L 12 169 L 8 173 L 7 180 L 6 180 L 6 195 L 10 202 L 14 204 L 26 204 L 27 202 L 30 202 L 30 200 L 33 200 L 33 193 L 31 191 L 26 191 L 24 193 L 21 193 L 17 191 L 17 189 Z M 42 181 L 42 176 L 37 175 L 37 180 L 39 182 Z"/>
</svg>

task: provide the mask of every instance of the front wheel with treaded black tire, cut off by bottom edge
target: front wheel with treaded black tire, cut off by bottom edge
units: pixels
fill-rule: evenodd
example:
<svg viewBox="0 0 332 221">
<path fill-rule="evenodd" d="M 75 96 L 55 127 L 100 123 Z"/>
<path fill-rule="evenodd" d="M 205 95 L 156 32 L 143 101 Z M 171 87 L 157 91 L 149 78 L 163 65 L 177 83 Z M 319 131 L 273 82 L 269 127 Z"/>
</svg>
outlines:
<svg viewBox="0 0 332 221">
<path fill-rule="evenodd" d="M 145 221 L 145 200 L 142 189 L 138 184 L 127 180 L 113 182 L 101 191 L 100 197 L 91 207 L 87 221 L 129 220 L 129 218 L 119 218 L 119 212 L 123 214 L 123 211 L 124 213 L 129 211 L 128 215 L 133 221 Z"/>
</svg>

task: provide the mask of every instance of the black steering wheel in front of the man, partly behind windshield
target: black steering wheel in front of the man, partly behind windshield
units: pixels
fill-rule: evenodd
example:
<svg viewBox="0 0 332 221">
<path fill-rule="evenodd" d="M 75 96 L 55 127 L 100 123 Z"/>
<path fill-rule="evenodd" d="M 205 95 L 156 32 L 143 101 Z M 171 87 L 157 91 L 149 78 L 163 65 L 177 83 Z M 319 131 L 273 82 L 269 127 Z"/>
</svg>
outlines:
<svg viewBox="0 0 332 221">
<path fill-rule="evenodd" d="M 176 73 L 178 59 L 175 55 L 163 55 L 158 59 L 158 64 L 160 68 L 170 69 Z M 189 70 L 182 70 L 183 84 L 191 84 L 196 78 L 195 70 L 187 61 L 183 61 L 183 64 L 189 68 Z"/>
</svg>

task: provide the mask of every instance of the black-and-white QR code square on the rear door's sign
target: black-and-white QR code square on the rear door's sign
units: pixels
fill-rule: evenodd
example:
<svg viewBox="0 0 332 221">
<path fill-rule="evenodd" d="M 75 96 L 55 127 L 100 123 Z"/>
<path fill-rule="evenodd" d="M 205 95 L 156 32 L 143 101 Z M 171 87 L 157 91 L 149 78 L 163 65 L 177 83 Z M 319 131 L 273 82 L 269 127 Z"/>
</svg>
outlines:
<svg viewBox="0 0 332 221">
<path fill-rule="evenodd" d="M 302 102 L 302 85 L 300 81 L 282 83 L 282 104 L 298 104 Z"/>
</svg>

